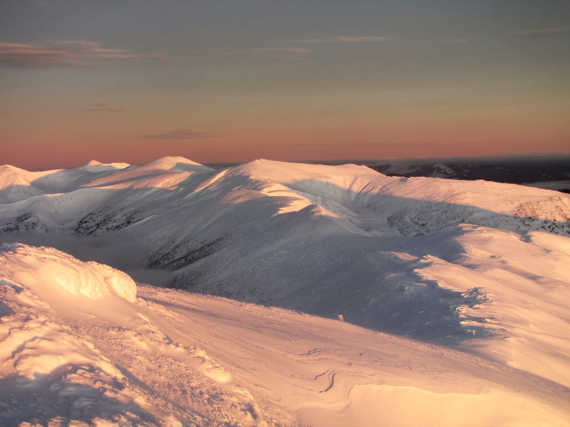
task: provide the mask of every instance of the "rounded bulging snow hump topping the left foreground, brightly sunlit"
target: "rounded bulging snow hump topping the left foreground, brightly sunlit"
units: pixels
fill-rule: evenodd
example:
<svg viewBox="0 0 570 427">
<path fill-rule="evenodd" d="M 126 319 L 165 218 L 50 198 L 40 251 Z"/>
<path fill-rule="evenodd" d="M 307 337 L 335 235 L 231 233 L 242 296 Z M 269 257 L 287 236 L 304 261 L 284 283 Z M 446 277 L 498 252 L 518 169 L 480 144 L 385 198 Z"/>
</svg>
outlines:
<svg viewBox="0 0 570 427">
<path fill-rule="evenodd" d="M 82 262 L 53 248 L 34 248 L 22 244 L 0 246 L 3 274 L 10 276 L 18 269 L 27 270 L 37 286 L 60 287 L 73 295 L 97 300 L 117 295 L 129 302 L 136 301 L 137 286 L 127 274 L 97 262 Z M 17 277 L 16 277 L 17 278 Z"/>
</svg>

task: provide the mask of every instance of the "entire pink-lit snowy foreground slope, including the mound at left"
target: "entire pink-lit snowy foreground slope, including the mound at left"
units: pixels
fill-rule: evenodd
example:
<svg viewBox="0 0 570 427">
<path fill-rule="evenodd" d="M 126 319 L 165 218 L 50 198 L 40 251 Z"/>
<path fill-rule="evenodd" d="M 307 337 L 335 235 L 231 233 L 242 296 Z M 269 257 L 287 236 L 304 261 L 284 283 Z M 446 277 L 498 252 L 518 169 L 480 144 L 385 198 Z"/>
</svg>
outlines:
<svg viewBox="0 0 570 427">
<path fill-rule="evenodd" d="M 284 309 L 135 291 L 110 267 L 4 245 L 0 424 L 570 423 L 567 387 L 504 364 Z"/>
</svg>

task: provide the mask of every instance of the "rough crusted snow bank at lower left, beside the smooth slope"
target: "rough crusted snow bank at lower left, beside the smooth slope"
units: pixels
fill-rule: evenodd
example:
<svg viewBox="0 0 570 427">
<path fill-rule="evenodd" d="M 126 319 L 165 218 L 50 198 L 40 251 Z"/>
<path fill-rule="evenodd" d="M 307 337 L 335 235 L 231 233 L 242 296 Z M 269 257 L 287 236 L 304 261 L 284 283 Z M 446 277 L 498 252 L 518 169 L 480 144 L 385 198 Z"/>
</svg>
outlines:
<svg viewBox="0 0 570 427">
<path fill-rule="evenodd" d="M 42 262 L 116 278 L 51 248 L 0 249 L 0 425 L 299 425 L 273 404 L 260 408 L 186 331 L 162 328 L 179 315 L 159 309 L 158 320 L 142 300 L 86 303 L 74 286 L 82 295 L 66 298 L 54 285 L 62 272 Z"/>
</svg>

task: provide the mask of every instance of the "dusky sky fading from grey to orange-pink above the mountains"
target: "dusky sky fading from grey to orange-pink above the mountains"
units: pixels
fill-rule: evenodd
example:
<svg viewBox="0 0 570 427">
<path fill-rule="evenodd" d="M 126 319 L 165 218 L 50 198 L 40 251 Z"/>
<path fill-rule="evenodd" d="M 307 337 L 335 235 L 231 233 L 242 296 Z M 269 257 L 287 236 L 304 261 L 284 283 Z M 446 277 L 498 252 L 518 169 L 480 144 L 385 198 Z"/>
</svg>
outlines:
<svg viewBox="0 0 570 427">
<path fill-rule="evenodd" d="M 570 153 L 570 2 L 0 0 L 0 164 Z"/>
</svg>

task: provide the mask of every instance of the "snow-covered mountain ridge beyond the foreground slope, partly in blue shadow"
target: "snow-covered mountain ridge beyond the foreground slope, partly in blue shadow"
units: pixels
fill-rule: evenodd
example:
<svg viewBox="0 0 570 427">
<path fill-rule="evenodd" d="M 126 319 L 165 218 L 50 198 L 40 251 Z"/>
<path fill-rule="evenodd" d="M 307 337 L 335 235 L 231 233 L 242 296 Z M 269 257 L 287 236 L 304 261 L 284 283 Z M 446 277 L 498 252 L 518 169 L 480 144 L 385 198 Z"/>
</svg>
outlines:
<svg viewBox="0 0 570 427">
<path fill-rule="evenodd" d="M 52 174 L 69 191 L 1 205 L 0 237 L 570 385 L 568 195 L 355 165 L 82 168 Z"/>
</svg>

